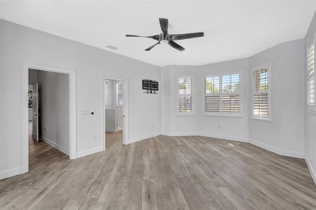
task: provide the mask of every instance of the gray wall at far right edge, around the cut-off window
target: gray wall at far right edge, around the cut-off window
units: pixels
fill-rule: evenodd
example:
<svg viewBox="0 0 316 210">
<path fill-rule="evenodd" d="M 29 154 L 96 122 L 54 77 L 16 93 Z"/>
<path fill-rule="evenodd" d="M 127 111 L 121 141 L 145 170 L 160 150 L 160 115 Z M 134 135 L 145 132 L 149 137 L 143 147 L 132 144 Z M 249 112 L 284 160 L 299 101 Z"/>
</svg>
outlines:
<svg viewBox="0 0 316 210">
<path fill-rule="evenodd" d="M 313 38 L 316 34 L 316 13 L 314 14 L 313 20 L 311 22 L 310 28 L 305 36 L 305 53 L 310 44 L 313 43 Z M 315 40 L 316 41 L 316 40 Z M 307 54 L 305 55 L 305 101 L 307 103 Z M 302 75 L 304 73 L 302 72 Z M 312 113 L 305 107 L 305 159 L 308 163 L 310 171 L 312 172 L 314 181 L 316 183 L 316 113 Z"/>
</svg>

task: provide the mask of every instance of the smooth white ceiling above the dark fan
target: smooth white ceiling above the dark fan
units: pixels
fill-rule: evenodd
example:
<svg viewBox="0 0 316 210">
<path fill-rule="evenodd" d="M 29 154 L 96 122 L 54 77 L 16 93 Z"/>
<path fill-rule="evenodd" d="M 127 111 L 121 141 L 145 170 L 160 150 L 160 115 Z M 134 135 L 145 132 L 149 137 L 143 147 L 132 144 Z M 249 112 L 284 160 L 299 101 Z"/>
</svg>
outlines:
<svg viewBox="0 0 316 210">
<path fill-rule="evenodd" d="M 316 0 L 253 1 L 0 1 L 1 19 L 76 40 L 157 66 L 203 65 L 252 56 L 304 38 Z M 204 32 L 178 40 L 177 51 L 150 38 L 169 19 L 169 34 Z M 117 50 L 106 48 L 107 45 Z"/>
</svg>

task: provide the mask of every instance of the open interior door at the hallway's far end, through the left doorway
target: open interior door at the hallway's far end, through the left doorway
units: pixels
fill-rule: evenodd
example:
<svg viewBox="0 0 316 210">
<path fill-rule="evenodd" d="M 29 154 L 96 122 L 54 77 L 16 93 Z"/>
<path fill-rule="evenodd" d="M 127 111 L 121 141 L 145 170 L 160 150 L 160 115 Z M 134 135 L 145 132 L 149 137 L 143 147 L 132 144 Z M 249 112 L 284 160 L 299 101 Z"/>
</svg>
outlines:
<svg viewBox="0 0 316 210">
<path fill-rule="evenodd" d="M 39 83 L 33 84 L 32 93 L 33 104 L 33 122 L 32 122 L 32 137 L 39 141 Z"/>
</svg>

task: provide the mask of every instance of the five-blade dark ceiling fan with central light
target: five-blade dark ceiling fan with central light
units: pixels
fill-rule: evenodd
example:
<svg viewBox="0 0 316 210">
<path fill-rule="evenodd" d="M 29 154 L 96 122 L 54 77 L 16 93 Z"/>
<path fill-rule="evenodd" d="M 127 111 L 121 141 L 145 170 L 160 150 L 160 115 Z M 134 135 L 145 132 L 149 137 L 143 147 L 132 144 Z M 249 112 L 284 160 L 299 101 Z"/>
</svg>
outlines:
<svg viewBox="0 0 316 210">
<path fill-rule="evenodd" d="M 179 44 L 174 42 L 175 40 L 181 40 L 181 39 L 187 39 L 187 38 L 197 38 L 204 36 L 203 32 L 198 33 L 190 33 L 190 34 L 180 34 L 180 35 L 169 35 L 168 34 L 168 19 L 165 18 L 159 18 L 160 22 L 160 28 L 162 30 L 162 33 L 159 35 L 152 35 L 152 36 L 140 36 L 140 35 L 126 35 L 129 37 L 146 37 L 146 38 L 153 38 L 156 39 L 158 42 L 147 49 L 146 51 L 149 51 L 153 49 L 157 44 L 160 44 L 160 42 L 167 42 L 171 47 L 183 51 L 185 48 L 181 47 Z"/>
</svg>

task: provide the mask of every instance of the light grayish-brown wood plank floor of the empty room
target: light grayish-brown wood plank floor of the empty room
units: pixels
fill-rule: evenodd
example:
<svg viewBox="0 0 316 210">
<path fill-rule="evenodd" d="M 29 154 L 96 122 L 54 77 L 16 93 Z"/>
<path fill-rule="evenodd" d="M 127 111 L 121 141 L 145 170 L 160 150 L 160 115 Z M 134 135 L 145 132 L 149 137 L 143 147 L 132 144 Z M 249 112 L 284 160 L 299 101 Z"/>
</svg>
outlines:
<svg viewBox="0 0 316 210">
<path fill-rule="evenodd" d="M 303 159 L 198 136 L 106 135 L 106 151 L 76 160 L 31 140 L 30 172 L 0 180 L 0 209 L 316 209 Z"/>
</svg>

